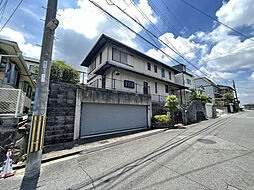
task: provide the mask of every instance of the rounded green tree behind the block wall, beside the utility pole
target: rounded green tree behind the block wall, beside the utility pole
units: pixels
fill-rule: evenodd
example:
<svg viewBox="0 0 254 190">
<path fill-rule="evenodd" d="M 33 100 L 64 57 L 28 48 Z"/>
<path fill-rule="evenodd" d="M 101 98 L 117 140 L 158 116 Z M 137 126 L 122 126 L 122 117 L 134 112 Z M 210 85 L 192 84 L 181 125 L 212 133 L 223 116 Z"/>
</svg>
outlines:
<svg viewBox="0 0 254 190">
<path fill-rule="evenodd" d="M 38 67 L 33 70 L 38 73 Z M 53 61 L 51 64 L 50 81 L 51 82 L 66 82 L 77 84 L 80 80 L 79 72 L 65 61 Z"/>
</svg>

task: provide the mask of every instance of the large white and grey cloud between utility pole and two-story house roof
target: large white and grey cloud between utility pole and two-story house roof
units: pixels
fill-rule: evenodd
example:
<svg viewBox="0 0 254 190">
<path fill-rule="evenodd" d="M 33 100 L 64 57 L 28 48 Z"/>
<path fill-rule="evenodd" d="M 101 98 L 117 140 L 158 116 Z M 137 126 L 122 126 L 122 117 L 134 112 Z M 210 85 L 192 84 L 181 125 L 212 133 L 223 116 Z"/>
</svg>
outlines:
<svg viewBox="0 0 254 190">
<path fill-rule="evenodd" d="M 95 2 L 136 32 L 142 30 L 140 26 L 131 21 L 115 6 L 108 5 L 105 0 L 95 0 Z M 113 2 L 128 14 L 136 16 L 143 25 L 147 26 L 149 24 L 131 1 L 126 1 L 127 4 L 130 4 L 128 7 L 122 0 L 114 0 Z M 102 11 L 98 10 L 88 0 L 78 0 L 77 5 L 77 8 L 58 10 L 61 17 L 58 18 L 60 25 L 56 36 L 59 37 L 59 40 L 55 42 L 54 59 L 66 60 L 68 64 L 76 68 L 84 69 L 80 67 L 80 64 L 101 34 L 106 34 L 130 47 L 141 50 L 141 47 L 133 41 L 136 37 L 135 34 L 106 17 Z M 153 23 L 157 22 L 147 0 L 139 0 L 137 5 Z"/>
</svg>

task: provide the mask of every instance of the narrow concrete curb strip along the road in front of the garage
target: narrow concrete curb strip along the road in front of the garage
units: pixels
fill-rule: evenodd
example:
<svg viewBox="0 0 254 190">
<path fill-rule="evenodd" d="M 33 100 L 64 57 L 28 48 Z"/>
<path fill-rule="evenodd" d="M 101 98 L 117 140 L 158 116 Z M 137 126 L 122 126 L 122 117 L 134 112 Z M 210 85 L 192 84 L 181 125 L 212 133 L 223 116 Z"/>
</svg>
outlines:
<svg viewBox="0 0 254 190">
<path fill-rule="evenodd" d="M 132 137 L 130 139 L 120 140 L 120 141 L 117 141 L 117 142 L 109 143 L 109 144 L 102 145 L 102 146 L 97 146 L 97 147 L 94 147 L 94 148 L 88 148 L 88 149 L 85 149 L 85 150 L 77 150 L 77 151 L 73 151 L 73 152 L 70 152 L 70 153 L 62 154 L 62 155 L 57 155 L 57 156 L 44 158 L 44 159 L 42 159 L 41 163 L 47 163 L 47 162 L 50 162 L 50 161 L 53 161 L 53 160 L 65 158 L 65 157 L 68 157 L 68 156 L 73 156 L 73 155 L 76 155 L 76 154 L 79 154 L 79 153 L 88 154 L 88 153 L 96 152 L 96 151 L 111 148 L 111 147 L 114 147 L 114 146 L 117 146 L 117 145 L 120 145 L 120 144 L 125 144 L 125 143 L 135 141 L 135 140 L 138 140 L 138 139 L 142 139 L 142 138 L 146 138 L 146 137 L 149 137 L 149 136 L 157 135 L 159 133 L 165 132 L 166 130 L 167 129 L 156 131 L 156 132 L 145 134 L 145 135 L 141 135 L 141 136 L 137 136 L 137 137 Z M 13 165 L 13 169 L 18 170 L 18 169 L 25 168 L 25 166 L 26 166 L 26 162 L 22 162 L 21 164 Z"/>
</svg>

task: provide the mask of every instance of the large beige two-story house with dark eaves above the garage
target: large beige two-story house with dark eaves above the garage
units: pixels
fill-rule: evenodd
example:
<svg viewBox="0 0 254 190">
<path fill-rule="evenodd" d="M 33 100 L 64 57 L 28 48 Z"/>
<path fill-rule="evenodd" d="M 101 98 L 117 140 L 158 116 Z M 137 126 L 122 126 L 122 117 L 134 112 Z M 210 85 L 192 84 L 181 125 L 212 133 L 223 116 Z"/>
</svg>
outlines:
<svg viewBox="0 0 254 190">
<path fill-rule="evenodd" d="M 153 102 L 165 103 L 168 95 L 187 89 L 175 81 L 180 71 L 106 35 L 99 38 L 81 65 L 88 67 L 90 86 L 151 94 Z"/>
</svg>

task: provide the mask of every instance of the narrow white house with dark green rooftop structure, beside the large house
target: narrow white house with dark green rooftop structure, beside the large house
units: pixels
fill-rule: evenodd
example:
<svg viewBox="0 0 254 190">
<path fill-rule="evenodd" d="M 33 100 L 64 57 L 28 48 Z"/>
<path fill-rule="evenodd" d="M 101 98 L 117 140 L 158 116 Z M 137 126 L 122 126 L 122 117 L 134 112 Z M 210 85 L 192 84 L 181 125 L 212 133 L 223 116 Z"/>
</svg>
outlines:
<svg viewBox="0 0 254 190">
<path fill-rule="evenodd" d="M 173 66 L 173 68 L 179 70 L 181 73 L 175 75 L 175 80 L 177 84 L 188 87 L 189 89 L 195 88 L 194 86 L 194 76 L 186 72 L 186 65 L 179 64 Z M 182 103 L 187 104 L 190 101 L 191 90 L 183 89 L 178 91 L 178 96 L 182 97 Z"/>
</svg>

